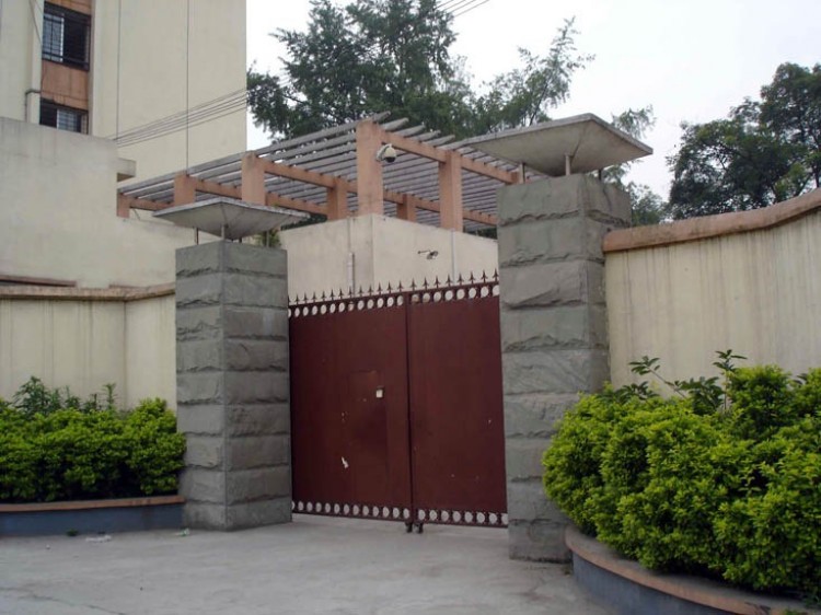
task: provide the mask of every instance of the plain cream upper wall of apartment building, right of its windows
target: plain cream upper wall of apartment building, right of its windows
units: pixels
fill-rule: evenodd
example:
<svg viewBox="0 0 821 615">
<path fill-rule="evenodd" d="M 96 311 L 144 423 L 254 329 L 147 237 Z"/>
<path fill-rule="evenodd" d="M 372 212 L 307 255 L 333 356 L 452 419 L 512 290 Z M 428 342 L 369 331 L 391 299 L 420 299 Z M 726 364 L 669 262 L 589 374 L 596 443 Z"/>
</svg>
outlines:
<svg viewBox="0 0 821 615">
<path fill-rule="evenodd" d="M 245 88 L 245 0 L 94 0 L 91 132 L 114 137 Z M 245 111 L 137 144 L 137 179 L 245 150 Z"/>
</svg>

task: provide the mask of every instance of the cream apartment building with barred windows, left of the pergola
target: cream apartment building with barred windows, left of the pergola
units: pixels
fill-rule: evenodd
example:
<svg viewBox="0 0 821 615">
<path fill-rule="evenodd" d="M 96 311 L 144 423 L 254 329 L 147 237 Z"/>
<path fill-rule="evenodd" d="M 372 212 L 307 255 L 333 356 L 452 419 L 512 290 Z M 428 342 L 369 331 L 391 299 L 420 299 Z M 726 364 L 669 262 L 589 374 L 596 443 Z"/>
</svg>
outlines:
<svg viewBox="0 0 821 615">
<path fill-rule="evenodd" d="M 118 182 L 245 149 L 244 0 L 0 0 L 0 283 L 173 280 Z"/>
</svg>

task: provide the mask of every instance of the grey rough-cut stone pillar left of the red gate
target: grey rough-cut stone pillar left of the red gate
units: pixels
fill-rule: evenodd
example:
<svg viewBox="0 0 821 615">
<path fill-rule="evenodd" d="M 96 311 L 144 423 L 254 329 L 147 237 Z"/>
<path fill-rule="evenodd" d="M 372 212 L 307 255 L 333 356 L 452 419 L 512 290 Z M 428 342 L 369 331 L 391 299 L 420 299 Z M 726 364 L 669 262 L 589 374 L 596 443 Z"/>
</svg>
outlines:
<svg viewBox="0 0 821 615">
<path fill-rule="evenodd" d="M 176 253 L 181 492 L 192 527 L 291 520 L 285 251 L 213 242 Z"/>
</svg>

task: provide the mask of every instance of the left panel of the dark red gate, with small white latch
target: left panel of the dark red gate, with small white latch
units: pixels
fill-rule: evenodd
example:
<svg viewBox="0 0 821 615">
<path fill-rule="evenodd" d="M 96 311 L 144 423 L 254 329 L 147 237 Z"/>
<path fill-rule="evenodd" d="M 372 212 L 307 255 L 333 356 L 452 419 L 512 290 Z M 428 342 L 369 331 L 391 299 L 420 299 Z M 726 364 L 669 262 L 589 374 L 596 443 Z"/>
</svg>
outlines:
<svg viewBox="0 0 821 615">
<path fill-rule="evenodd" d="M 291 310 L 298 512 L 395 517 L 410 508 L 405 308 L 363 308 Z"/>
</svg>

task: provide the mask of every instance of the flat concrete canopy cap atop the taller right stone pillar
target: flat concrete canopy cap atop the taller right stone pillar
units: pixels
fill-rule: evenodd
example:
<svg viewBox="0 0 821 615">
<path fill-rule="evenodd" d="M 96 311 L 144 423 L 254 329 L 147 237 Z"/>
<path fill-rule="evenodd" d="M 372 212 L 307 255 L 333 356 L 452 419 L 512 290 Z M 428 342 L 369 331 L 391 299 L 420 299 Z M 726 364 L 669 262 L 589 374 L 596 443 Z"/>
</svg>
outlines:
<svg viewBox="0 0 821 615">
<path fill-rule="evenodd" d="M 484 135 L 463 144 L 551 176 L 566 174 L 566 156 L 570 173 L 588 173 L 652 153 L 649 146 L 591 113 Z"/>
</svg>

